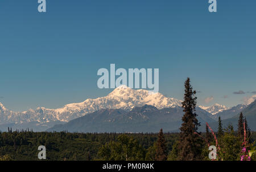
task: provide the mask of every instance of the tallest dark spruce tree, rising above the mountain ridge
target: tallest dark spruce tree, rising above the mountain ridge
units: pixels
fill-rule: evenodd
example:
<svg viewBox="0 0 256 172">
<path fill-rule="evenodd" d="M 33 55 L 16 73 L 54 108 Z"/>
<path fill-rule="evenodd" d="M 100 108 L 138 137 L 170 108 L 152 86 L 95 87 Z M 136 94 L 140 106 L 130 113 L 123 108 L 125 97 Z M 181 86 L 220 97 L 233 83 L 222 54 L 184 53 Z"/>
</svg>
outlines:
<svg viewBox="0 0 256 172">
<path fill-rule="evenodd" d="M 201 159 L 202 140 L 199 135 L 195 134 L 200 123 L 197 121 L 195 113 L 196 109 L 196 91 L 190 84 L 190 79 L 185 81 L 185 94 L 182 107 L 184 115 L 182 117 L 183 123 L 180 127 L 179 139 L 179 155 L 178 160 L 193 161 Z"/>
</svg>

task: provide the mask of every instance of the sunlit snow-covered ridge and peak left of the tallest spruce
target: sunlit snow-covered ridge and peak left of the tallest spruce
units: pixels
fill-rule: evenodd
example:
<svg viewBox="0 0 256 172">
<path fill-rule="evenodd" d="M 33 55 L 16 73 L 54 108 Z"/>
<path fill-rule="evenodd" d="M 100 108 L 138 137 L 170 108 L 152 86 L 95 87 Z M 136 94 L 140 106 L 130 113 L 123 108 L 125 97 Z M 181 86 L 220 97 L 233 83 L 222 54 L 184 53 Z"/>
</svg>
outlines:
<svg viewBox="0 0 256 172">
<path fill-rule="evenodd" d="M 87 99 L 84 102 L 68 104 L 59 109 L 37 108 L 27 111 L 13 112 L 7 110 L 0 104 L 0 124 L 2 123 L 22 123 L 49 121 L 68 122 L 72 119 L 82 117 L 88 113 L 93 113 L 100 109 L 123 109 L 131 110 L 135 106 L 152 105 L 158 109 L 174 108 L 181 106 L 181 101 L 175 98 L 165 97 L 163 94 L 146 91 L 143 89 L 135 90 L 125 85 L 115 88 L 108 96 L 96 99 Z"/>
</svg>

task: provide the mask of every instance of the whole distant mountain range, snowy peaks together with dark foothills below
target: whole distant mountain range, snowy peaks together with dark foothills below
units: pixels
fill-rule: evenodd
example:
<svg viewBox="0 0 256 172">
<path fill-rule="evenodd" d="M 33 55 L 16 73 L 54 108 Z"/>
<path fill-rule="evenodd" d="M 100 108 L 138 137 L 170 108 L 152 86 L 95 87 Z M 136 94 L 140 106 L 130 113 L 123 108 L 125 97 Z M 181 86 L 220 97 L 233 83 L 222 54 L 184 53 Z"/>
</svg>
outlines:
<svg viewBox="0 0 256 172">
<path fill-rule="evenodd" d="M 168 131 L 174 131 L 179 128 L 183 115 L 181 102 L 182 101 L 175 98 L 163 96 L 163 94 L 160 93 L 153 93 L 143 89 L 135 90 L 122 85 L 121 87 L 115 88 L 108 96 L 96 99 L 89 98 L 84 102 L 68 104 L 60 109 L 37 108 L 35 110 L 29 109 L 23 112 L 14 112 L 6 109 L 5 106 L 0 103 L 0 130 L 6 131 L 7 127 L 12 127 L 13 130 L 20 128 L 32 128 L 34 131 L 46 131 L 49 128 L 51 128 L 51 130 L 55 128 L 56 130 L 60 130 L 60 128 L 65 128 L 65 126 L 74 123 L 73 121 L 83 119 L 86 126 L 80 126 L 78 124 L 81 128 L 76 128 L 77 131 L 101 132 L 117 130 L 116 132 L 123 132 L 127 129 L 129 132 L 153 132 L 158 131 L 161 125 L 163 125 L 163 128 L 166 127 Z M 199 106 L 199 108 L 197 108 L 197 114 L 199 114 L 198 118 L 201 123 L 214 123 L 219 116 L 221 116 L 222 119 L 234 117 L 234 115 L 237 115 L 245 109 L 246 106 L 247 105 L 238 105 L 233 108 L 227 108 L 226 106 L 218 104 L 210 107 Z M 144 118 L 138 115 L 138 111 L 140 111 L 139 108 L 142 107 L 150 109 L 147 113 L 141 112 Z M 104 114 L 106 114 L 107 111 L 109 111 L 109 114 L 113 115 L 110 117 L 106 115 L 105 117 Z M 118 116 L 117 114 L 121 115 Z M 101 119 L 95 121 L 96 117 L 97 119 L 101 117 Z M 127 117 L 131 117 L 132 119 Z M 158 119 L 156 117 L 161 117 L 161 120 L 156 120 Z M 166 117 L 166 119 L 164 117 Z M 84 121 L 85 119 L 86 121 Z M 104 120 L 114 122 L 108 123 Z M 88 123 L 89 121 L 90 123 Z M 136 126 L 134 123 L 141 125 L 141 130 L 139 130 L 139 126 L 134 127 Z M 60 124 L 64 125 L 60 126 Z M 115 127 L 109 128 L 107 127 L 109 124 L 110 127 L 122 126 L 122 129 L 115 129 Z M 129 126 L 129 124 L 132 125 Z M 168 125 L 170 126 L 168 127 Z M 103 126 L 109 129 L 105 130 L 106 128 Z M 94 130 L 93 128 L 95 127 L 98 129 Z M 71 127 L 70 131 L 75 131 L 74 128 L 75 127 Z M 102 128 L 102 130 L 100 128 Z M 146 130 L 146 128 L 149 128 L 149 130 Z M 154 128 L 158 129 L 155 130 Z"/>
</svg>

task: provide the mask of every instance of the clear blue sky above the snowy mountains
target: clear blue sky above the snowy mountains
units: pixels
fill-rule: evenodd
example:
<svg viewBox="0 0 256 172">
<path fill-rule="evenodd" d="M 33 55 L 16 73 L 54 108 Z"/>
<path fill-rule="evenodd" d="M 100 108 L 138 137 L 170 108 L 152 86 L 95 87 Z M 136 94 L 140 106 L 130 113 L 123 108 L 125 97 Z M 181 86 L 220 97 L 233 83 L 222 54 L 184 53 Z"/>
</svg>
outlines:
<svg viewBox="0 0 256 172">
<path fill-rule="evenodd" d="M 159 92 L 233 106 L 256 91 L 256 2 L 217 0 L 0 1 L 0 102 L 11 110 L 105 96 L 97 70 L 159 68 Z M 243 91 L 245 94 L 234 94 Z M 205 98 L 213 97 L 208 104 Z M 224 98 L 225 96 L 225 98 Z"/>
</svg>

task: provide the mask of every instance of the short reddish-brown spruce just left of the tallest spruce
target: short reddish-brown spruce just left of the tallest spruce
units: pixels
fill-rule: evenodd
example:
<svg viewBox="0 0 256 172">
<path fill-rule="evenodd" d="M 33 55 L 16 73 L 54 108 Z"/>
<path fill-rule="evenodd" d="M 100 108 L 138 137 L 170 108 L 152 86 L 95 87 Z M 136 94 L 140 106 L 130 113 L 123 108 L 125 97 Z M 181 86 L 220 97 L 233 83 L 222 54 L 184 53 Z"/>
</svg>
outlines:
<svg viewBox="0 0 256 172">
<path fill-rule="evenodd" d="M 155 160 L 156 161 L 166 161 L 168 157 L 166 140 L 164 140 L 163 129 L 161 128 L 158 134 L 158 141 L 156 143 L 155 151 Z"/>
</svg>

